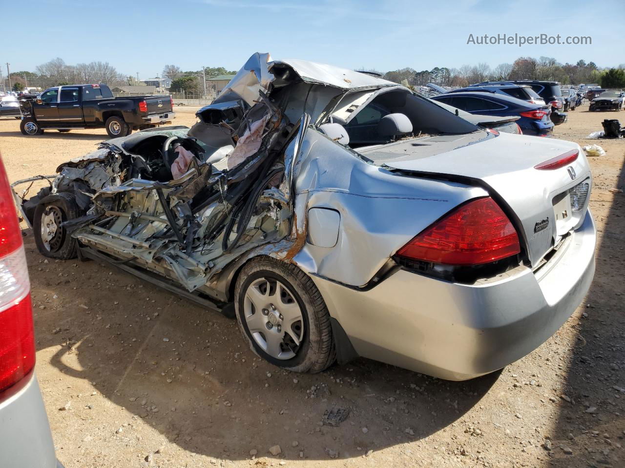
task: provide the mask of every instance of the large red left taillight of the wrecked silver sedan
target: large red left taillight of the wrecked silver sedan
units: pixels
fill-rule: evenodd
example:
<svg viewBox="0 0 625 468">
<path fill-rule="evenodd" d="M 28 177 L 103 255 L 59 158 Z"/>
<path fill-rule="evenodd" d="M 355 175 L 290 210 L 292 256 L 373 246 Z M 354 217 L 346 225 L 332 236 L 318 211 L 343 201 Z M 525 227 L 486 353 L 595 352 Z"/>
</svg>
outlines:
<svg viewBox="0 0 625 468">
<path fill-rule="evenodd" d="M 520 251 L 514 226 L 488 197 L 449 213 L 404 245 L 397 255 L 446 265 L 481 265 Z"/>
</svg>

